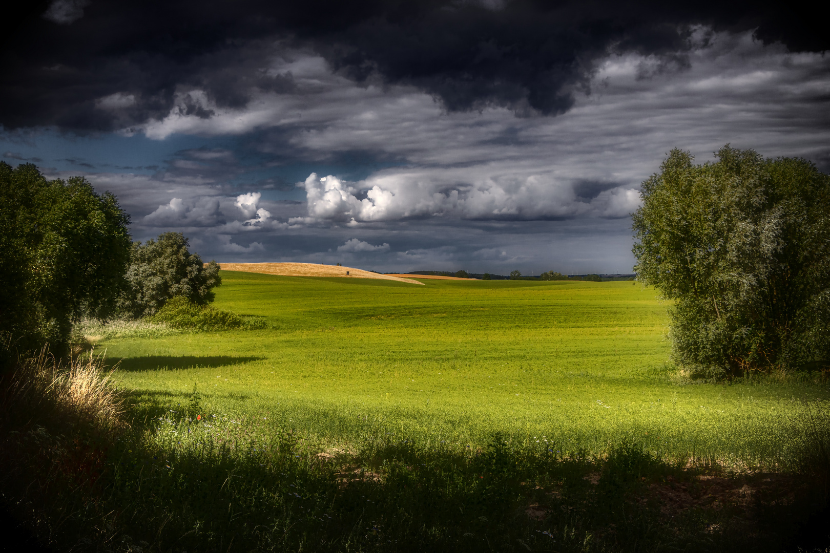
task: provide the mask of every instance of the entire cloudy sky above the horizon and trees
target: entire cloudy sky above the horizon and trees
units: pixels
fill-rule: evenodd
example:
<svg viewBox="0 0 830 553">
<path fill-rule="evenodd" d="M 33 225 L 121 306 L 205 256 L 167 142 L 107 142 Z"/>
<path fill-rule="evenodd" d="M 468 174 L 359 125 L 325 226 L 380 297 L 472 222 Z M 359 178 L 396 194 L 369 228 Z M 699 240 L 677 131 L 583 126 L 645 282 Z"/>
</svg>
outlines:
<svg viewBox="0 0 830 553">
<path fill-rule="evenodd" d="M 496 274 L 630 272 L 671 148 L 830 170 L 830 35 L 780 2 L 275 3 L 19 8 L 2 160 L 206 260 Z"/>
</svg>

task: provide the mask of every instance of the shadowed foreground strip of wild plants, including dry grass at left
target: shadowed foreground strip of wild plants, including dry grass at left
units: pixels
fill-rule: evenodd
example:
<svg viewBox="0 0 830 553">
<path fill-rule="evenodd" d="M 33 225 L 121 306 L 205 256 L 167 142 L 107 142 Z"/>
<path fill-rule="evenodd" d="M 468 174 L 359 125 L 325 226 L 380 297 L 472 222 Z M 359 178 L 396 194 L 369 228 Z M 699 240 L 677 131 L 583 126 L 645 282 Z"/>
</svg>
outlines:
<svg viewBox="0 0 830 553">
<path fill-rule="evenodd" d="M 22 363 L 0 409 L 4 501 L 61 551 L 779 551 L 828 492 L 822 412 L 793 420 L 791 466 L 735 473 L 555 435 L 472 451 L 378 426 L 326 448 L 195 390 L 131 408 L 89 356 Z"/>
</svg>

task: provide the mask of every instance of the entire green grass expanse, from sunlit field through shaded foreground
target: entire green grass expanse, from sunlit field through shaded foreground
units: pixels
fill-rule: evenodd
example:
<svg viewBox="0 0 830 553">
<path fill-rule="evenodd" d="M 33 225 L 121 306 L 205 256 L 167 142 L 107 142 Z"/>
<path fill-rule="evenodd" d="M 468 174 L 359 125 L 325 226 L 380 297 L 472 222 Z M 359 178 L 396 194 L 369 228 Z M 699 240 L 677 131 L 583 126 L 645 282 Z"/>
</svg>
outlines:
<svg viewBox="0 0 830 553">
<path fill-rule="evenodd" d="M 93 444 L 81 451 L 100 462 L 82 493 L 71 472 L 48 481 L 60 501 L 30 525 L 43 541 L 78 551 L 777 551 L 828 495 L 823 377 L 679 376 L 666 365 L 654 290 L 222 281 L 216 308 L 266 328 L 100 329 L 97 351 L 117 363 L 110 379 L 129 404 L 124 423 L 59 434 L 41 418 L 15 434 L 31 449 L 46 427 L 49 451 Z M 95 390 L 120 405 L 111 387 Z M 28 466 L 19 483 L 41 478 Z M 31 512 L 33 502 L 17 505 Z"/>
</svg>

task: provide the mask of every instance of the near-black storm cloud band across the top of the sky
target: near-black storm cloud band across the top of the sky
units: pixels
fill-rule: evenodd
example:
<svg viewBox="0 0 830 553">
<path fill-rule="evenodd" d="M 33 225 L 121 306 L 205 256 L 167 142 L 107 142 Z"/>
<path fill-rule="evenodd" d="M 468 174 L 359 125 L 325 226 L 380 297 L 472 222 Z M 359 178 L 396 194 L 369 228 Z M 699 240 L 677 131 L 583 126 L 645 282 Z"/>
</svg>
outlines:
<svg viewBox="0 0 830 553">
<path fill-rule="evenodd" d="M 193 89 L 220 108 L 257 91 L 292 94 L 291 73 L 264 70 L 284 46 L 309 48 L 361 83 L 414 85 L 448 111 L 520 115 L 570 109 L 609 53 L 657 56 L 644 77 L 685 67 L 695 25 L 756 29 L 791 51 L 830 46 L 820 18 L 784 2 L 56 0 L 18 2 L 6 15 L 6 129 L 121 129 L 173 106 L 211 117 Z"/>
</svg>

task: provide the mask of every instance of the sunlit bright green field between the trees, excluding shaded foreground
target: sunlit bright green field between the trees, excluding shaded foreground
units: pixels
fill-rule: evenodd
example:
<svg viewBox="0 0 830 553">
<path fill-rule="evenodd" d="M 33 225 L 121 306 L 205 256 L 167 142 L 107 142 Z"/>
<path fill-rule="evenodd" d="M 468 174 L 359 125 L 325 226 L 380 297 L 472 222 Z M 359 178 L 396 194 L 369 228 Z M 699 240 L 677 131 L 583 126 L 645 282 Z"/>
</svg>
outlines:
<svg viewBox="0 0 830 553">
<path fill-rule="evenodd" d="M 666 308 L 629 282 L 426 286 L 223 272 L 216 307 L 274 329 L 120 339 L 121 386 L 148 402 L 289 419 L 334 441 L 367 433 L 485 444 L 555 435 L 595 452 L 623 437 L 670 456 L 774 462 L 809 384 L 678 386 Z M 159 369 L 159 367 L 162 367 Z"/>
</svg>

